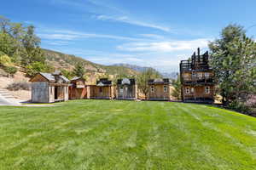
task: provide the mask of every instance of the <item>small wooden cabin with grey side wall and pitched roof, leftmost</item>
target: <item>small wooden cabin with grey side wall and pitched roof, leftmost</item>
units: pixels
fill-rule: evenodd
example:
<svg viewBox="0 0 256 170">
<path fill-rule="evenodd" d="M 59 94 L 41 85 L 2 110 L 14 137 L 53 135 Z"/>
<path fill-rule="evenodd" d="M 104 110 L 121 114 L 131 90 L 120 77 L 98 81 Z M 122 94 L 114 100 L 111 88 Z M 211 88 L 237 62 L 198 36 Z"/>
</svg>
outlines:
<svg viewBox="0 0 256 170">
<path fill-rule="evenodd" d="M 30 79 L 32 82 L 32 102 L 53 103 L 68 100 L 69 80 L 61 74 L 40 72 Z"/>
</svg>

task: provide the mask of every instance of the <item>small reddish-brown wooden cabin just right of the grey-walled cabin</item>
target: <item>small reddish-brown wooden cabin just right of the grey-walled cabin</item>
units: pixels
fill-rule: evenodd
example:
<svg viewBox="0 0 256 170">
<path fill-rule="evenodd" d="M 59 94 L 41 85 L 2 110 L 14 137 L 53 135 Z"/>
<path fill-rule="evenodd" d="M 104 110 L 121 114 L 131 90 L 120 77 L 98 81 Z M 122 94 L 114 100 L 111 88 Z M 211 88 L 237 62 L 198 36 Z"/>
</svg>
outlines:
<svg viewBox="0 0 256 170">
<path fill-rule="evenodd" d="M 86 86 L 83 77 L 74 77 L 69 86 L 69 99 L 90 99 L 90 86 Z"/>
</svg>

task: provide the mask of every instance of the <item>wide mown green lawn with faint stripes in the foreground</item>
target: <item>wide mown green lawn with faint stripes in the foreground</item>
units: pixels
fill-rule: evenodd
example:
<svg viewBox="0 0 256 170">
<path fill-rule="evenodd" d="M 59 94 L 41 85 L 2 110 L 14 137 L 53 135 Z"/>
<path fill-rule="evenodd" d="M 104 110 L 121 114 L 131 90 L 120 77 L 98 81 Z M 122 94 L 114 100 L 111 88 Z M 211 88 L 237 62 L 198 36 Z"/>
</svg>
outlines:
<svg viewBox="0 0 256 170">
<path fill-rule="evenodd" d="M 0 169 L 256 169 L 256 118 L 150 101 L 1 106 Z"/>
</svg>

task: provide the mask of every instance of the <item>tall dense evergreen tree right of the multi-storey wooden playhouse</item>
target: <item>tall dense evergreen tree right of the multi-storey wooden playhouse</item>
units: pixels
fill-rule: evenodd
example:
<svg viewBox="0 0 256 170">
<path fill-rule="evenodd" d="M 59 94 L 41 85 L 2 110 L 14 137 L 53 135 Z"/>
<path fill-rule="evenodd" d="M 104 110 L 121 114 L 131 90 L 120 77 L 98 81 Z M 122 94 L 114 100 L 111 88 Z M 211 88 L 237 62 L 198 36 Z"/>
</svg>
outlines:
<svg viewBox="0 0 256 170">
<path fill-rule="evenodd" d="M 256 44 L 246 36 L 242 26 L 229 25 L 220 38 L 210 42 L 210 65 L 218 81 L 223 103 L 245 102 L 255 93 Z"/>
</svg>

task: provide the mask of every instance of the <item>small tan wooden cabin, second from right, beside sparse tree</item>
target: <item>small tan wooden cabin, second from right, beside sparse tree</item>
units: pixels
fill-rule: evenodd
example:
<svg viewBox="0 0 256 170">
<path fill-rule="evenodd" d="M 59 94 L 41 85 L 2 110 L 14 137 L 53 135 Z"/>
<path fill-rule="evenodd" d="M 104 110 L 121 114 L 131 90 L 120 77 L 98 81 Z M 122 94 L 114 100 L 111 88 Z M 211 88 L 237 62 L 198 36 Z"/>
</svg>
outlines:
<svg viewBox="0 0 256 170">
<path fill-rule="evenodd" d="M 172 82 L 169 78 L 148 80 L 149 100 L 171 100 Z"/>
</svg>

